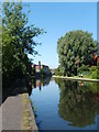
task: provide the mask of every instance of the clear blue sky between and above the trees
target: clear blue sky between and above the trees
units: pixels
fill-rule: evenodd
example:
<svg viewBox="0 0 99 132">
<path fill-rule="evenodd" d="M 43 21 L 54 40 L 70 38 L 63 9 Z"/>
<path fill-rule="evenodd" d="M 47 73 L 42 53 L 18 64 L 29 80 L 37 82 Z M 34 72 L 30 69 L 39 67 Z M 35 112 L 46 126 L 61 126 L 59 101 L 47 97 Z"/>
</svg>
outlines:
<svg viewBox="0 0 99 132">
<path fill-rule="evenodd" d="M 97 40 L 97 2 L 30 2 L 29 24 L 44 29 L 46 34 L 35 38 L 42 43 L 35 50 L 33 63 L 58 67 L 57 41 L 69 31 L 82 30 Z M 24 10 L 28 12 L 28 7 Z M 29 56 L 32 57 L 32 56 Z"/>
</svg>

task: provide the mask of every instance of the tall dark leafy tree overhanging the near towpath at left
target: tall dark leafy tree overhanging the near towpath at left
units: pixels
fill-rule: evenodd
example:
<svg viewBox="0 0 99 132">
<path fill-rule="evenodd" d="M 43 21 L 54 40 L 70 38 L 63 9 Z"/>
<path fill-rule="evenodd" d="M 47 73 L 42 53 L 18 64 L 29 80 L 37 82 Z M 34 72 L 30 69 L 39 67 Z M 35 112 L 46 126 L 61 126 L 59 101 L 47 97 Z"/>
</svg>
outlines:
<svg viewBox="0 0 99 132">
<path fill-rule="evenodd" d="M 2 75 L 3 80 L 30 74 L 31 61 L 28 54 L 35 55 L 38 43 L 34 37 L 44 31 L 28 25 L 28 16 L 22 12 L 22 2 L 4 2 L 2 16 Z"/>
</svg>

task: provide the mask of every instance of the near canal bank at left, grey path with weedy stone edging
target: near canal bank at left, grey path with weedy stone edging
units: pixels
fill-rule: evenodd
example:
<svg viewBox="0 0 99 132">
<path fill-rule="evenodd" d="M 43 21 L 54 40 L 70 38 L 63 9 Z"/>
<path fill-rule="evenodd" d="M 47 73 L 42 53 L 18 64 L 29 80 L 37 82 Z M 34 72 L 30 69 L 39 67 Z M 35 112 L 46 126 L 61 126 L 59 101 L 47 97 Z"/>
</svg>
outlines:
<svg viewBox="0 0 99 132">
<path fill-rule="evenodd" d="M 26 88 L 22 81 L 18 81 L 13 92 L 1 105 L 2 130 L 38 130 L 29 94 L 23 89 Z"/>
</svg>

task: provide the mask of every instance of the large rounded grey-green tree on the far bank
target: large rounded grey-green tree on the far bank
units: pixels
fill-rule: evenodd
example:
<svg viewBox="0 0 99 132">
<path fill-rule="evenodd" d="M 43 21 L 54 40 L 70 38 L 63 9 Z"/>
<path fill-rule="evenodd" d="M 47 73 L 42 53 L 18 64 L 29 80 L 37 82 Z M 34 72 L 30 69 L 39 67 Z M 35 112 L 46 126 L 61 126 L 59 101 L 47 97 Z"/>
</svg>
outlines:
<svg viewBox="0 0 99 132">
<path fill-rule="evenodd" d="M 57 42 L 59 64 L 64 67 L 64 75 L 77 74 L 77 64 L 89 65 L 96 51 L 96 42 L 92 34 L 84 31 L 72 31 L 66 33 Z M 68 73 L 69 72 L 69 73 Z"/>
</svg>

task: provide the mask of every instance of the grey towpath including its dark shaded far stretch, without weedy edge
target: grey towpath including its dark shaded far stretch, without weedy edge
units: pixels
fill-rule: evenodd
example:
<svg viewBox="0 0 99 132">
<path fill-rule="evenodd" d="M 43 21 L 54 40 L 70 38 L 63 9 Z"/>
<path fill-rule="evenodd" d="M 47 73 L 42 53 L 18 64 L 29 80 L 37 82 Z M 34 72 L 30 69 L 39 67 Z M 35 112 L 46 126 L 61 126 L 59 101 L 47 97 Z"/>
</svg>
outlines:
<svg viewBox="0 0 99 132">
<path fill-rule="evenodd" d="M 2 130 L 21 130 L 23 114 L 24 80 L 16 80 L 7 100 L 2 103 Z"/>
</svg>

